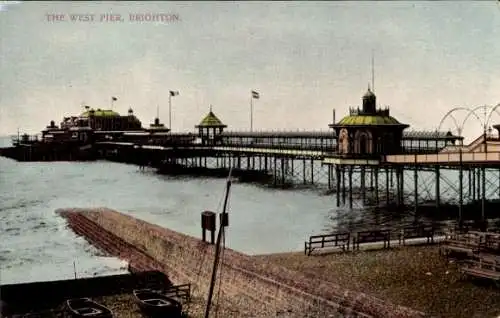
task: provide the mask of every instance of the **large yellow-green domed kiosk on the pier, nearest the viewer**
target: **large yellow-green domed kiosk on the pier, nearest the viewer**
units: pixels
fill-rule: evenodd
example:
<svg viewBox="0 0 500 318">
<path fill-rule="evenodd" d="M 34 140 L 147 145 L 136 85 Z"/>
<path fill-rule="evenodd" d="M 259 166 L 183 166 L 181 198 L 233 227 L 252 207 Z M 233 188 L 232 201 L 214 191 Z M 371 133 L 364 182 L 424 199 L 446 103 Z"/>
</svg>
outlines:
<svg viewBox="0 0 500 318">
<path fill-rule="evenodd" d="M 349 208 L 353 208 L 353 174 L 360 171 L 360 191 L 362 202 L 366 201 L 366 173 L 370 173 L 370 188 L 375 191 L 375 203 L 379 203 L 379 170 L 387 154 L 399 154 L 403 148 L 403 131 L 409 127 L 390 115 L 389 108 L 377 109 L 377 97 L 368 87 L 362 97 L 362 108 L 350 108 L 349 115 L 338 123 L 329 125 L 335 130 L 337 149 L 323 160 L 335 169 L 337 206 L 346 203 L 349 193 Z M 415 136 L 413 136 L 415 137 Z M 419 149 L 417 149 L 418 151 Z M 329 173 L 332 167 L 329 166 Z M 389 169 L 386 169 L 386 180 Z M 401 172 L 396 171 L 398 177 Z M 346 186 L 346 175 L 348 184 Z M 398 179 L 399 180 L 399 179 Z M 389 192 L 387 184 L 386 191 Z M 349 190 L 348 190 L 349 189 Z M 389 197 L 389 193 L 386 194 Z"/>
</svg>

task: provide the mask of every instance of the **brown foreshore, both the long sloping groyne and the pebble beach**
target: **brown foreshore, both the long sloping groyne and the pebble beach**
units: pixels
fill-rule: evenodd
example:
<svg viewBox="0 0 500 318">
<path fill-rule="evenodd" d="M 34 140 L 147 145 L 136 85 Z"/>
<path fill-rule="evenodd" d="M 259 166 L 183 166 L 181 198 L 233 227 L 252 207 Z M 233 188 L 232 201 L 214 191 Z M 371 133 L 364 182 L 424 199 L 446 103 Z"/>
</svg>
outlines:
<svg viewBox="0 0 500 318">
<path fill-rule="evenodd" d="M 126 260 L 133 271 L 159 270 L 175 285 L 191 283 L 189 317 L 203 316 L 213 245 L 107 208 L 56 212 L 75 233 L 108 256 Z M 303 251 L 247 255 L 225 249 L 214 311 L 223 317 L 493 318 L 500 314 L 500 290 L 464 280 L 456 264 L 439 255 L 438 245 L 413 245 L 416 241 L 390 249 L 366 244 L 356 252 L 311 256 Z M 134 306 L 128 294 L 97 300 L 119 312 Z M 136 316 L 131 311 L 123 317 Z"/>
</svg>

